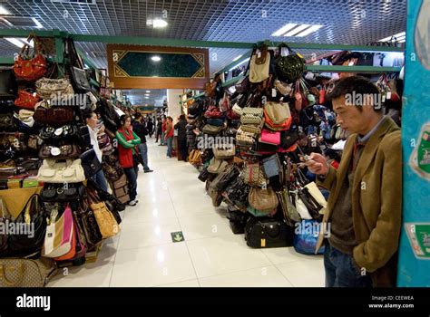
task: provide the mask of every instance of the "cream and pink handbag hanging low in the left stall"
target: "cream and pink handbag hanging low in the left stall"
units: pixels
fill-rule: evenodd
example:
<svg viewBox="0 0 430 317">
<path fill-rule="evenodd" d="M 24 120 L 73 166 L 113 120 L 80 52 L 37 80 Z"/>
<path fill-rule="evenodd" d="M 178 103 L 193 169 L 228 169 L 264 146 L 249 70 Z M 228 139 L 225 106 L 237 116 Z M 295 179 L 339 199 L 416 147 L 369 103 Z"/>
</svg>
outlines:
<svg viewBox="0 0 430 317">
<path fill-rule="evenodd" d="M 59 257 L 67 255 L 76 245 L 74 240 L 73 215 L 72 209 L 67 206 L 63 214 L 56 219 L 58 209 L 53 209 L 51 213 L 50 224 L 46 227 L 46 235 L 44 236 L 44 247 L 42 255 L 45 257 Z"/>
</svg>

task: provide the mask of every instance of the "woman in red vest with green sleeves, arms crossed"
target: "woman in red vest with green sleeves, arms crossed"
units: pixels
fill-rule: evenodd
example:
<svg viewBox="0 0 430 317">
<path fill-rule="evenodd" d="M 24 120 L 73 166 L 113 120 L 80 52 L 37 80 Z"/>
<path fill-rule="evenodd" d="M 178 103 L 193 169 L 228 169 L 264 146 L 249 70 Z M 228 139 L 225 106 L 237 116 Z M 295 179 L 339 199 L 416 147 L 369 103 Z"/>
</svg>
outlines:
<svg viewBox="0 0 430 317">
<path fill-rule="evenodd" d="M 137 174 L 139 171 L 139 159 L 136 147 L 141 143 L 141 139 L 132 131 L 132 118 L 129 115 L 122 115 L 120 118 L 121 127 L 116 132 L 118 139 L 118 157 L 120 165 L 129 182 L 130 206 L 135 206 L 137 197 Z"/>
</svg>

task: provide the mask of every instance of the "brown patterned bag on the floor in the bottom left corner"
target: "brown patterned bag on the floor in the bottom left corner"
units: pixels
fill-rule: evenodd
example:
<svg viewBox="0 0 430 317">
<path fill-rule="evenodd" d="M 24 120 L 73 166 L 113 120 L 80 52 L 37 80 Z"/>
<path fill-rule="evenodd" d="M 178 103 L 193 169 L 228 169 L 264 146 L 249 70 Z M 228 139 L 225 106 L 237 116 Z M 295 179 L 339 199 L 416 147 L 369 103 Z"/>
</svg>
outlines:
<svg viewBox="0 0 430 317">
<path fill-rule="evenodd" d="M 52 259 L 0 259 L 0 287 L 44 287 L 56 273 Z"/>
</svg>

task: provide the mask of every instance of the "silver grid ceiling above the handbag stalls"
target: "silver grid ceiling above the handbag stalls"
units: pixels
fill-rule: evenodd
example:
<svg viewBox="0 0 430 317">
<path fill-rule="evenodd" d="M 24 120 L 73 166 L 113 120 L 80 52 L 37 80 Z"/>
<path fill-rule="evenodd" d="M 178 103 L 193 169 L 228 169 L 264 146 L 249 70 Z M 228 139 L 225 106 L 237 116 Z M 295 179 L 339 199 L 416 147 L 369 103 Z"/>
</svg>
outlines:
<svg viewBox="0 0 430 317">
<path fill-rule="evenodd" d="M 406 30 L 406 0 L 51 0 L 0 1 L 11 14 L 35 17 L 44 30 L 73 34 L 139 35 L 187 40 L 255 43 L 273 41 L 366 44 Z M 165 29 L 146 25 L 165 17 Z M 322 24 L 306 37 L 273 37 L 288 23 Z M 0 27 L 8 27 L 5 24 Z M 106 68 L 105 44 L 78 43 L 95 65 Z M 0 56 L 18 49 L 0 40 Z M 210 49 L 210 72 L 243 50 Z M 308 53 L 308 52 L 307 52 Z M 216 56 L 216 58 L 213 58 Z"/>
</svg>

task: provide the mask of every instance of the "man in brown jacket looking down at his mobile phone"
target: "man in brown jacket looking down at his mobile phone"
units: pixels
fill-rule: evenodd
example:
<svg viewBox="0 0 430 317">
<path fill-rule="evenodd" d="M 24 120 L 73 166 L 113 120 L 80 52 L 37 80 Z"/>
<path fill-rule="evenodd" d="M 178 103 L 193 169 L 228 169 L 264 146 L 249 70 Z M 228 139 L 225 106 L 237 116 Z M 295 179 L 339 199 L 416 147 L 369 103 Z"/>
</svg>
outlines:
<svg viewBox="0 0 430 317">
<path fill-rule="evenodd" d="M 339 81 L 329 97 L 337 122 L 350 133 L 339 168 L 318 153 L 304 159 L 318 185 L 330 191 L 323 219 L 331 223 L 324 255 L 327 287 L 396 286 L 401 137 L 396 123 L 383 115 L 378 96 L 363 77 Z"/>
</svg>

